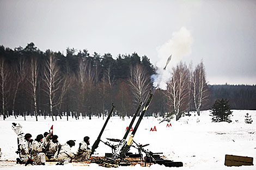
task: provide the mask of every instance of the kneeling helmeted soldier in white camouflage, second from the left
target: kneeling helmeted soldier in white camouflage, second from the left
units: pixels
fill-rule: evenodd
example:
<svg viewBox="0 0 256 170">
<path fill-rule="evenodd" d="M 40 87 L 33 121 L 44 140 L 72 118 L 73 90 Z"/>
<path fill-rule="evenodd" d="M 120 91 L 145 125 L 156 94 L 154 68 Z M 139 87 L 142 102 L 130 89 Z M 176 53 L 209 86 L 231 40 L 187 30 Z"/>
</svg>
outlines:
<svg viewBox="0 0 256 170">
<path fill-rule="evenodd" d="M 42 152 L 42 136 L 41 134 L 36 136 L 32 143 L 32 156 L 35 159 L 36 165 L 45 165 L 45 153 Z"/>
</svg>

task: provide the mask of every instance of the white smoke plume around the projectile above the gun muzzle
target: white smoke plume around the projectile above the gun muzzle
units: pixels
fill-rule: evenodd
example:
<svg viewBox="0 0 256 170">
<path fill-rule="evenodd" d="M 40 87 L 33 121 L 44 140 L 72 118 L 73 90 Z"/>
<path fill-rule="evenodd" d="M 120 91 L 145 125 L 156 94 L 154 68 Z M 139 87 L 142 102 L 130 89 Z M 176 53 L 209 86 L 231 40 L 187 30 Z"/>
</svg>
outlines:
<svg viewBox="0 0 256 170">
<path fill-rule="evenodd" d="M 172 68 L 181 61 L 183 56 L 191 54 L 192 42 L 193 39 L 190 31 L 185 27 L 181 27 L 178 32 L 173 32 L 170 40 L 157 47 L 156 74 L 151 76 L 153 86 L 156 89 L 167 90 L 167 82 L 172 76 Z M 172 59 L 167 65 L 166 70 L 163 70 L 171 54 Z"/>
</svg>

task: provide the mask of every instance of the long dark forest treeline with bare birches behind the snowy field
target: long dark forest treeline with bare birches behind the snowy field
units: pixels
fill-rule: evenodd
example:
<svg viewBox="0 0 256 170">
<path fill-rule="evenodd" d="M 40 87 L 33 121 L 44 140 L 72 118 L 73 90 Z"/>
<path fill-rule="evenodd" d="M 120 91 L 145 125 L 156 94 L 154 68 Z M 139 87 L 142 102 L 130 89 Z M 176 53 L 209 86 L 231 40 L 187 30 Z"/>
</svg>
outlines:
<svg viewBox="0 0 256 170">
<path fill-rule="evenodd" d="M 104 118 L 112 102 L 117 106 L 114 115 L 133 115 L 154 89 L 155 68 L 147 56 L 137 53 L 114 58 L 110 53 L 89 54 L 87 49 L 67 48 L 65 55 L 42 52 L 34 43 L 14 49 L 0 46 L 1 116 Z M 255 85 L 208 85 L 203 62 L 194 69 L 180 62 L 167 90 L 154 90 L 147 116 L 167 112 L 179 118 L 189 111 L 199 115 L 221 98 L 229 100 L 231 109 L 256 109 Z"/>
</svg>

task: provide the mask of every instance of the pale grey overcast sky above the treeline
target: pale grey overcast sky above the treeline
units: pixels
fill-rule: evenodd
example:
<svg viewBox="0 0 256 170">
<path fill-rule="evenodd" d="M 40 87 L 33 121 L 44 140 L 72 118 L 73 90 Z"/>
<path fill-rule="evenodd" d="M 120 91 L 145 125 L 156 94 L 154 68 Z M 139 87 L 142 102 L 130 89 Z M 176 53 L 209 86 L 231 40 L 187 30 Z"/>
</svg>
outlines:
<svg viewBox="0 0 256 170">
<path fill-rule="evenodd" d="M 65 53 L 147 55 L 182 27 L 192 36 L 191 54 L 203 60 L 209 84 L 256 84 L 256 1 L 13 1 L 0 0 L 0 45 Z M 166 56 L 166 59 L 168 56 Z"/>
</svg>

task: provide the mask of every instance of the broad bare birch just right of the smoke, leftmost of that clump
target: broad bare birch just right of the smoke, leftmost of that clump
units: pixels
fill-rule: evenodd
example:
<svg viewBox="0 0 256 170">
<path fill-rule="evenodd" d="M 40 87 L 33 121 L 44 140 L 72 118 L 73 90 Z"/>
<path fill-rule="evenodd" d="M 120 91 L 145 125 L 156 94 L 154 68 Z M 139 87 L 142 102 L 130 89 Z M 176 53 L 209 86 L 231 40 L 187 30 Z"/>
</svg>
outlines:
<svg viewBox="0 0 256 170">
<path fill-rule="evenodd" d="M 176 115 L 176 120 L 187 109 L 188 74 L 187 66 L 180 62 L 176 68 L 173 68 L 172 79 L 167 83 L 167 104 Z"/>
</svg>

